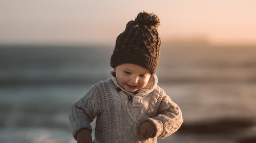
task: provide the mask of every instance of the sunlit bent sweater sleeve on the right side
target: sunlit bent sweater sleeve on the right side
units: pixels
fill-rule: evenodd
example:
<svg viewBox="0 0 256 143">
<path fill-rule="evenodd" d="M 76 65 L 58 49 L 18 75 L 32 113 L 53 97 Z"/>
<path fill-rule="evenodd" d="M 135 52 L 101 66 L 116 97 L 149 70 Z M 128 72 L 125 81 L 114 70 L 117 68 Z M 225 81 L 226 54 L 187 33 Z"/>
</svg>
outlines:
<svg viewBox="0 0 256 143">
<path fill-rule="evenodd" d="M 163 92 L 157 116 L 147 118 L 145 121 L 149 121 L 154 125 L 156 129 L 154 137 L 159 136 L 164 138 L 173 134 L 180 128 L 183 118 L 179 106 Z"/>
</svg>

